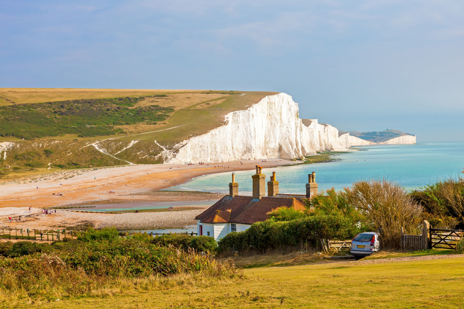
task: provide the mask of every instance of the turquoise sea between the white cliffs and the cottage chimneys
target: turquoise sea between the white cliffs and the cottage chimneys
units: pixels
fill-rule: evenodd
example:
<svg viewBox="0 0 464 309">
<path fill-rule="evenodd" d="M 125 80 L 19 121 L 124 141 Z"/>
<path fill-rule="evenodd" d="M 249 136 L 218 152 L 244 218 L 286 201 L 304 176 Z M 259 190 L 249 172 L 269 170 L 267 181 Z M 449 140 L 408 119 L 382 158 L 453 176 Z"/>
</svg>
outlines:
<svg viewBox="0 0 464 309">
<path fill-rule="evenodd" d="M 316 171 L 319 190 L 334 187 L 341 190 L 351 183 L 369 178 L 387 178 L 415 189 L 438 179 L 456 176 L 464 168 L 464 142 L 433 142 L 416 145 L 375 145 L 355 147 L 359 151 L 337 155 L 339 162 L 281 166 L 264 169 L 269 180 L 277 173 L 281 193 L 304 194 L 308 174 Z M 240 194 L 251 195 L 251 175 L 254 170 L 238 171 Z M 169 190 L 200 190 L 228 193 L 231 172 L 210 174 Z"/>
</svg>

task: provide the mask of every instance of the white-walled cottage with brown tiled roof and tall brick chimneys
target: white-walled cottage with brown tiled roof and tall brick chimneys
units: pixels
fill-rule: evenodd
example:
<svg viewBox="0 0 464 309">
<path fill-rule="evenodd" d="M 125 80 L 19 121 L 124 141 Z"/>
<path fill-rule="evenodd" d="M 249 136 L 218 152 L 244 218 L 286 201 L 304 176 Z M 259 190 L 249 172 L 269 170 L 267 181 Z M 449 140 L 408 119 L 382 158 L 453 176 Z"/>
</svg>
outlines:
<svg viewBox="0 0 464 309">
<path fill-rule="evenodd" d="M 317 193 L 316 173 L 308 175 L 306 194 L 279 193 L 279 182 L 276 172 L 272 172 L 267 182 L 267 196 L 265 196 L 266 175 L 262 168 L 256 166 L 256 174 L 252 175 L 252 196 L 238 195 L 238 183 L 235 173 L 232 173 L 232 183 L 229 183 L 229 195 L 224 196 L 213 206 L 195 217 L 198 235 L 206 235 L 219 240 L 230 232 L 246 230 L 255 222 L 268 219 L 268 213 L 278 207 L 293 207 L 303 210 L 303 200 Z"/>
</svg>

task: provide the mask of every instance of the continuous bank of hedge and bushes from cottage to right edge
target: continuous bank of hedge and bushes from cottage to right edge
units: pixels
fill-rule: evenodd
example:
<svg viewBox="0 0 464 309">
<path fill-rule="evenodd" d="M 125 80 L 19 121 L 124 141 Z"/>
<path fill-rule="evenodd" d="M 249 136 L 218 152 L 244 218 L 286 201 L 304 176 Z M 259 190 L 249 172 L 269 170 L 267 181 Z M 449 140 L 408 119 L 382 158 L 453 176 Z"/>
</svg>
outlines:
<svg viewBox="0 0 464 309">
<path fill-rule="evenodd" d="M 419 234 L 423 220 L 436 228 L 464 224 L 464 179 L 449 178 L 408 192 L 398 183 L 371 179 L 351 188 L 320 192 L 305 201 L 305 210 L 276 208 L 270 219 L 219 241 L 223 255 L 264 253 L 275 249 L 318 246 L 319 239 L 347 240 L 376 231 L 384 248 L 399 248 L 401 227 Z"/>
</svg>

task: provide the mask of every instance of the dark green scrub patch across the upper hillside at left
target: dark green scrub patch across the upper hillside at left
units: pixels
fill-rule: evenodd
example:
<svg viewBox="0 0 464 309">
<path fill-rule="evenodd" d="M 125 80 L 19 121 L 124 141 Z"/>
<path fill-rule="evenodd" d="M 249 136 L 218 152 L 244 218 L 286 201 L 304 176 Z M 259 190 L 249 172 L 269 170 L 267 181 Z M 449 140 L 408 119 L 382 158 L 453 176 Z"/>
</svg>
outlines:
<svg viewBox="0 0 464 309">
<path fill-rule="evenodd" d="M 173 107 L 159 105 L 131 108 L 142 99 L 145 97 L 0 106 L 0 136 L 31 139 L 64 134 L 78 137 L 114 135 L 126 133 L 120 126 L 153 125 L 174 113 Z"/>
</svg>

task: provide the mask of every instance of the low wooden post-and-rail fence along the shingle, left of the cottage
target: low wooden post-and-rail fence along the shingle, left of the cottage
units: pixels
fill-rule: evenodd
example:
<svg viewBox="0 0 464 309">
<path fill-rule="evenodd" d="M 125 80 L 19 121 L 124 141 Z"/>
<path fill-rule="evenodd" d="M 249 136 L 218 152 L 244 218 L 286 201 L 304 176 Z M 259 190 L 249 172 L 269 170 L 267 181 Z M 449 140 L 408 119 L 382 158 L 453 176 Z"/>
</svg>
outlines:
<svg viewBox="0 0 464 309">
<path fill-rule="evenodd" d="M 62 240 L 64 237 L 68 237 L 71 239 L 77 239 L 86 231 L 75 231 L 75 230 L 39 230 L 39 229 L 23 229 L 23 228 L 2 228 L 0 230 L 0 239 L 8 239 L 8 240 Z M 135 233 L 141 233 L 136 231 L 120 231 L 119 236 L 130 236 L 134 235 Z M 155 237 L 161 236 L 165 234 L 177 234 L 177 233 L 148 233 L 148 235 Z M 186 233 L 180 233 L 186 234 Z M 197 233 L 188 233 L 189 235 L 196 235 Z"/>
</svg>

